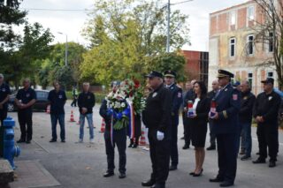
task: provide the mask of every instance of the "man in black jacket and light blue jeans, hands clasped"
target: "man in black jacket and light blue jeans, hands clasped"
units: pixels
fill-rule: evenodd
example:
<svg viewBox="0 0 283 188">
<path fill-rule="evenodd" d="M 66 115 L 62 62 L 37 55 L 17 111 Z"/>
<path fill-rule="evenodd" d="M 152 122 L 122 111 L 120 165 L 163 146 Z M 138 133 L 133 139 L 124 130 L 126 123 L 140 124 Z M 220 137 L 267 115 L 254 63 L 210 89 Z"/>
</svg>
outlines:
<svg viewBox="0 0 283 188">
<path fill-rule="evenodd" d="M 80 108 L 80 139 L 79 142 L 83 142 L 83 134 L 84 134 L 84 125 L 85 118 L 88 120 L 88 128 L 89 128 L 89 142 L 94 142 L 94 125 L 93 125 L 93 111 L 96 104 L 95 94 L 89 92 L 89 83 L 83 83 L 83 91 L 79 94 L 78 98 L 78 106 Z"/>
</svg>

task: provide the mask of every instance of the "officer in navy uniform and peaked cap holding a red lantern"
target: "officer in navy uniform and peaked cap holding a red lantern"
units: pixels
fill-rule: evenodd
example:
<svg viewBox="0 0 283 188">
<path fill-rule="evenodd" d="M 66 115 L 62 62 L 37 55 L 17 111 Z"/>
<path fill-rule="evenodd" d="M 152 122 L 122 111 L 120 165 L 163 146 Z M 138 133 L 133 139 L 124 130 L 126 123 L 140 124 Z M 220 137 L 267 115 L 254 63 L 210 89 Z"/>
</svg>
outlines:
<svg viewBox="0 0 283 188">
<path fill-rule="evenodd" d="M 213 121 L 212 132 L 216 134 L 218 142 L 218 176 L 210 182 L 221 182 L 221 187 L 232 186 L 237 169 L 237 129 L 239 125 L 239 111 L 241 108 L 241 94 L 230 83 L 233 73 L 218 70 L 218 82 L 222 87 L 214 97 L 217 103 L 216 112 L 210 112 Z"/>
</svg>

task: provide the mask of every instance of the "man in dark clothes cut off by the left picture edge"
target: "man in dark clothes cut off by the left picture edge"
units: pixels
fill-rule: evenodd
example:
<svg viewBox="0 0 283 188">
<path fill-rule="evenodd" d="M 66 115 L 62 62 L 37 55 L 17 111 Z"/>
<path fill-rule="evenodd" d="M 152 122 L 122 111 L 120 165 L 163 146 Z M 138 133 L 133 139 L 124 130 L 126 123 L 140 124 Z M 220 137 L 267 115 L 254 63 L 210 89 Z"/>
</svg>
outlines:
<svg viewBox="0 0 283 188">
<path fill-rule="evenodd" d="M 0 74 L 0 119 L 3 125 L 4 119 L 7 117 L 7 102 L 10 98 L 10 86 L 4 83 L 4 75 Z"/>
</svg>

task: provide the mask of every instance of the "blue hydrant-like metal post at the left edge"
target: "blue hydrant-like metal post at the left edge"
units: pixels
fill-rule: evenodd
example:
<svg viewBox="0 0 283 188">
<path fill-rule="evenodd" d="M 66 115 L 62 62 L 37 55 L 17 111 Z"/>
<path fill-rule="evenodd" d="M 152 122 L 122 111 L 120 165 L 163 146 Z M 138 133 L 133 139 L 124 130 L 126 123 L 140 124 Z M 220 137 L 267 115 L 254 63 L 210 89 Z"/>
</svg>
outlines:
<svg viewBox="0 0 283 188">
<path fill-rule="evenodd" d="M 8 160 L 12 169 L 16 169 L 14 164 L 14 157 L 20 154 L 20 148 L 15 146 L 14 130 L 15 120 L 11 117 L 4 119 L 4 159 Z"/>
</svg>

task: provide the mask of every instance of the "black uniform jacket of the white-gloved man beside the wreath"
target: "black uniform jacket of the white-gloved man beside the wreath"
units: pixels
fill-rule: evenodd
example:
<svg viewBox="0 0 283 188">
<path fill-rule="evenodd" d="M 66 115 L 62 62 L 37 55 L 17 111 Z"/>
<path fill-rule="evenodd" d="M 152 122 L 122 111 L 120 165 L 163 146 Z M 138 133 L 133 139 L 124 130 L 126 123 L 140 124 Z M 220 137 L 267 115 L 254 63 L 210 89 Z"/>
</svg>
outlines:
<svg viewBox="0 0 283 188">
<path fill-rule="evenodd" d="M 142 112 L 142 121 L 149 129 L 167 132 L 171 127 L 171 113 L 172 92 L 161 85 L 149 94 L 146 108 Z"/>
</svg>

